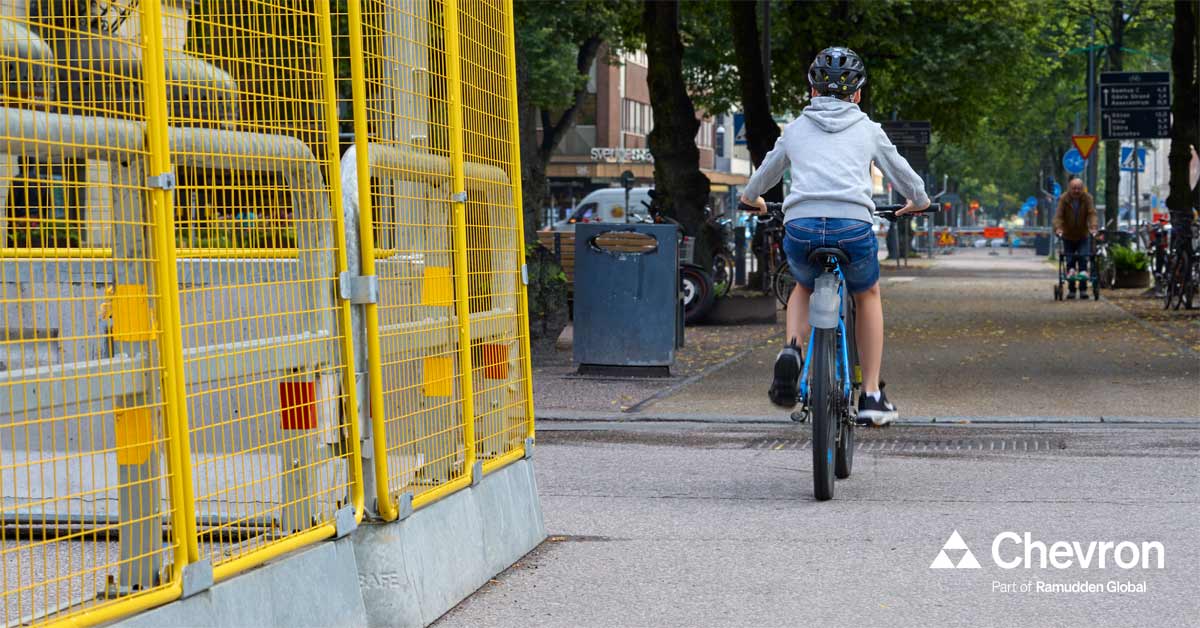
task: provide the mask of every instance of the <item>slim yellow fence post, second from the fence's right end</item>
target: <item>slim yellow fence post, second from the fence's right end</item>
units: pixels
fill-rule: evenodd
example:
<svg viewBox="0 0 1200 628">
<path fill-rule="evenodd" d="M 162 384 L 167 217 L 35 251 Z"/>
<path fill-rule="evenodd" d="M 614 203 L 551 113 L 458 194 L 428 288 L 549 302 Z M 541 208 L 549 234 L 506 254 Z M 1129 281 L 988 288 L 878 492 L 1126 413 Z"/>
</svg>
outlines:
<svg viewBox="0 0 1200 628">
<path fill-rule="evenodd" d="M 450 118 L 450 174 L 454 208 L 455 311 L 458 317 L 458 369 L 462 391 L 462 439 L 467 448 L 463 471 L 479 482 L 475 468 L 475 385 L 470 346 L 470 297 L 467 261 L 467 179 L 463 155 L 462 54 L 458 49 L 458 0 L 445 0 L 442 10 L 446 53 L 446 109 Z"/>
</svg>

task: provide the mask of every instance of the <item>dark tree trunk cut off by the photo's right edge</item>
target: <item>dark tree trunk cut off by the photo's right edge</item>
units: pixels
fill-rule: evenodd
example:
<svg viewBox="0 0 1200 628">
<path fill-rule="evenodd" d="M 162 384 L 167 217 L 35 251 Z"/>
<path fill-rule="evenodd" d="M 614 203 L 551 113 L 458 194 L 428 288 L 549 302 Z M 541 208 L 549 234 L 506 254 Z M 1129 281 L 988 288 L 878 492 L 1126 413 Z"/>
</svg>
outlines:
<svg viewBox="0 0 1200 628">
<path fill-rule="evenodd" d="M 1171 151 L 1168 162 L 1171 169 L 1170 195 L 1166 208 L 1171 211 L 1175 233 L 1190 233 L 1192 208 L 1200 195 L 1200 185 L 1190 187 L 1192 146 L 1200 148 L 1200 124 L 1196 108 L 1200 107 L 1200 2 L 1196 0 L 1175 2 L 1172 26 L 1171 74 L 1174 94 L 1171 103 Z"/>
</svg>

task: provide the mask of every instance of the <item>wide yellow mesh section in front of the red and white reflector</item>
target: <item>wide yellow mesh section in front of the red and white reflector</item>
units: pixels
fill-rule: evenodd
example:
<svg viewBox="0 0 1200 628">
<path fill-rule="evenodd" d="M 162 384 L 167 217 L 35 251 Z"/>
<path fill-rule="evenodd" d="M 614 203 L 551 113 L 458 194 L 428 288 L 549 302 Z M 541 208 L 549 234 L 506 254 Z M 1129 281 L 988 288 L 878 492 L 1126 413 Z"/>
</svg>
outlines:
<svg viewBox="0 0 1200 628">
<path fill-rule="evenodd" d="M 200 557 L 331 524 L 350 501 L 330 140 L 316 1 L 206 0 L 164 38 Z"/>
</svg>

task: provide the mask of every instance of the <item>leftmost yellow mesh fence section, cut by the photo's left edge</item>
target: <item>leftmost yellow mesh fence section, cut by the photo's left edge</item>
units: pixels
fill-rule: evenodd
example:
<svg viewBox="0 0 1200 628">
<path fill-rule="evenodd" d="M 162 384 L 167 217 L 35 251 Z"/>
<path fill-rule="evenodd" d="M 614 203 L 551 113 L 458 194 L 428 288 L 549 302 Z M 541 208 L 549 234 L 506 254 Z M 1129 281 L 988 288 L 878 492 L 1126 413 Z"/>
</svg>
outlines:
<svg viewBox="0 0 1200 628">
<path fill-rule="evenodd" d="M 146 14 L 0 16 L 0 621 L 164 599 L 178 503 L 158 387 Z"/>
</svg>

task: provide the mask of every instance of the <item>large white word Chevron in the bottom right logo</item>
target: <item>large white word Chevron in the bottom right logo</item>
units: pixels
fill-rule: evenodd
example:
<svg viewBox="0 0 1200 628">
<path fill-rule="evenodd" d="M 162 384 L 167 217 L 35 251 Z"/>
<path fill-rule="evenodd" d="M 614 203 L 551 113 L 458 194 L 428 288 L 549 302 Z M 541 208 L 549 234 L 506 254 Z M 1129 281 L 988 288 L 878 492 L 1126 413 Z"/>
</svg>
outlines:
<svg viewBox="0 0 1200 628">
<path fill-rule="evenodd" d="M 1046 545 L 1033 540 L 1028 532 L 1024 537 L 1016 532 L 1001 532 L 991 542 L 991 560 L 1001 569 L 1032 569 L 1034 564 L 1040 569 L 1106 569 L 1109 566 L 1121 569 L 1165 569 L 1166 550 L 1157 540 L 1092 540 L 1087 544 L 1058 540 Z"/>
</svg>

